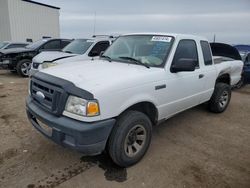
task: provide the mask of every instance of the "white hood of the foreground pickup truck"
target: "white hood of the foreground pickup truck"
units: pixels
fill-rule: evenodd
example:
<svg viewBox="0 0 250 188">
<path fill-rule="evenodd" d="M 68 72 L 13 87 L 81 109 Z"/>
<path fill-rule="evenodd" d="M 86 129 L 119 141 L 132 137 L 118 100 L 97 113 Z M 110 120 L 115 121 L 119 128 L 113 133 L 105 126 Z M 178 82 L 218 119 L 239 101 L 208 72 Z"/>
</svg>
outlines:
<svg viewBox="0 0 250 188">
<path fill-rule="evenodd" d="M 148 69 L 141 65 L 109 62 L 101 59 L 65 63 L 41 72 L 68 80 L 93 94 L 98 91 L 121 91 L 163 80 L 166 76 L 163 68 L 151 67 Z"/>
</svg>

